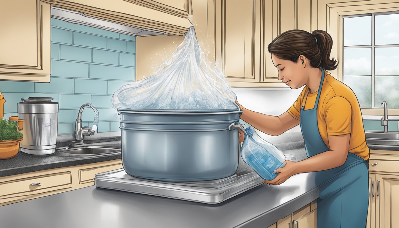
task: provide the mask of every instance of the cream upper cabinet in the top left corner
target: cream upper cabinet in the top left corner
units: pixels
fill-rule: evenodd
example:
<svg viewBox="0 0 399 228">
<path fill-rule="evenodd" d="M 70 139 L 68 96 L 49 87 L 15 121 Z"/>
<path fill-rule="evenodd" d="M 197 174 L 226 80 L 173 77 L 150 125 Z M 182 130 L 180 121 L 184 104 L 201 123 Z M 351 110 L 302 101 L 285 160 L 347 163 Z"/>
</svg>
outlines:
<svg viewBox="0 0 399 228">
<path fill-rule="evenodd" d="M 50 5 L 40 0 L 0 1 L 0 79 L 49 82 Z"/>
</svg>

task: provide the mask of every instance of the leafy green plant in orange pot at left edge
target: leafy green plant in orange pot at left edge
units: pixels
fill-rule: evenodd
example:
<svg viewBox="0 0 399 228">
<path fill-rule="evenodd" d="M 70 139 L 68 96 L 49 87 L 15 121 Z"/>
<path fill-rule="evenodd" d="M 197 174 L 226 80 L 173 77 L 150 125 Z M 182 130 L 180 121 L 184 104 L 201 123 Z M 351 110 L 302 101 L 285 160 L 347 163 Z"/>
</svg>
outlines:
<svg viewBox="0 0 399 228">
<path fill-rule="evenodd" d="M 17 121 L 0 119 L 0 159 L 10 159 L 20 150 L 22 133 Z"/>
</svg>

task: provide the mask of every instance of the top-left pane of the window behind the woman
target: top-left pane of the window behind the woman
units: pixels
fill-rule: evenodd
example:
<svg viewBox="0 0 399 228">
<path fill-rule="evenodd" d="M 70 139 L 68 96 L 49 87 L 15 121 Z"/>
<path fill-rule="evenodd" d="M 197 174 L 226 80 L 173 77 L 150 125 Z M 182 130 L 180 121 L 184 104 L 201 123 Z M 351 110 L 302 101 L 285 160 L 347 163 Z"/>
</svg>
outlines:
<svg viewBox="0 0 399 228">
<path fill-rule="evenodd" d="M 344 18 L 344 46 L 371 45 L 371 16 Z"/>
</svg>

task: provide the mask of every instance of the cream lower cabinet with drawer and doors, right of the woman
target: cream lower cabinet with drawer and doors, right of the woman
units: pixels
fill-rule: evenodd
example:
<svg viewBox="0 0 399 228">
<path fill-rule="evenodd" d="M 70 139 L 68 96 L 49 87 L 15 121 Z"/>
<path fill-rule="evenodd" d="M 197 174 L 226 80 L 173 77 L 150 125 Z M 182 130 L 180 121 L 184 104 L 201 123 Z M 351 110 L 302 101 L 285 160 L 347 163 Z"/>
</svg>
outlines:
<svg viewBox="0 0 399 228">
<path fill-rule="evenodd" d="M 370 202 L 367 228 L 399 224 L 399 153 L 370 150 Z"/>
</svg>

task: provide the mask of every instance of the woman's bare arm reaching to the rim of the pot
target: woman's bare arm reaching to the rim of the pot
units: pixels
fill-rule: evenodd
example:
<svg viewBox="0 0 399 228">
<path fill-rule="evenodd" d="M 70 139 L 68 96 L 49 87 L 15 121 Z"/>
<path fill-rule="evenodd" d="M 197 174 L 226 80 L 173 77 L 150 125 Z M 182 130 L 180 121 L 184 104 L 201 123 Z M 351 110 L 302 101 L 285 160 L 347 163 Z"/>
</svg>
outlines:
<svg viewBox="0 0 399 228">
<path fill-rule="evenodd" d="M 243 109 L 240 118 L 268 135 L 280 135 L 299 124 L 299 120 L 292 117 L 288 111 L 280 116 L 272 116 L 251 111 L 241 105 L 240 107 Z"/>
</svg>

